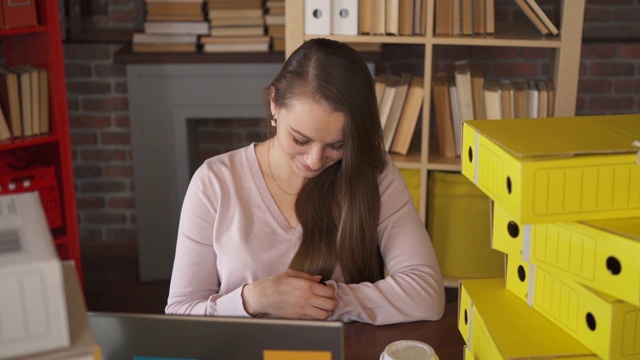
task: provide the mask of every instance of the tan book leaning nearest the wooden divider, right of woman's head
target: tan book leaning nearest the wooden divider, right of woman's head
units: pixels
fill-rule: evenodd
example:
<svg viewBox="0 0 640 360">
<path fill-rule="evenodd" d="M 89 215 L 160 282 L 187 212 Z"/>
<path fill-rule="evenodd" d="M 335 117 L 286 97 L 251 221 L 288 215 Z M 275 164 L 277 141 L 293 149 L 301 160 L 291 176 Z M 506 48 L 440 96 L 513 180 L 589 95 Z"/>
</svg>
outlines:
<svg viewBox="0 0 640 360">
<path fill-rule="evenodd" d="M 424 79 L 413 76 L 409 84 L 404 108 L 400 115 L 400 121 L 396 133 L 391 142 L 391 152 L 407 155 L 409 145 L 416 130 L 418 119 L 420 118 L 420 110 L 424 103 Z"/>
</svg>

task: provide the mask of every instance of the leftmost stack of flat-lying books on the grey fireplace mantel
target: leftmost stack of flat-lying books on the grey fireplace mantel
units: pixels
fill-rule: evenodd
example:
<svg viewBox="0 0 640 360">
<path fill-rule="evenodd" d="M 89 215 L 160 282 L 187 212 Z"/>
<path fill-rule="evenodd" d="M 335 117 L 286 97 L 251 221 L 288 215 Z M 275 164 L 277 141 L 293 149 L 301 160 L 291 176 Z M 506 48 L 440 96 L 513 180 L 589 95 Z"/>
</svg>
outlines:
<svg viewBox="0 0 640 360">
<path fill-rule="evenodd" d="M 209 33 L 203 0 L 145 0 L 144 32 L 133 34 L 135 52 L 197 52 Z"/>
</svg>

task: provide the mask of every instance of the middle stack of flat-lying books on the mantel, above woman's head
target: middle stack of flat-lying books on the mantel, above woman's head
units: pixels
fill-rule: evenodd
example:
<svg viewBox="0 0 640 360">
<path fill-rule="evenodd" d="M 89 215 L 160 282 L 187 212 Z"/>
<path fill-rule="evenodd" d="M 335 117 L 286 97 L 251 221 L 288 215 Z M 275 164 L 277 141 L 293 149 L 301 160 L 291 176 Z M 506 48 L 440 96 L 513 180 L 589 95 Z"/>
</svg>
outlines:
<svg viewBox="0 0 640 360">
<path fill-rule="evenodd" d="M 203 52 L 268 52 L 262 0 L 207 0 L 209 31 Z"/>
</svg>

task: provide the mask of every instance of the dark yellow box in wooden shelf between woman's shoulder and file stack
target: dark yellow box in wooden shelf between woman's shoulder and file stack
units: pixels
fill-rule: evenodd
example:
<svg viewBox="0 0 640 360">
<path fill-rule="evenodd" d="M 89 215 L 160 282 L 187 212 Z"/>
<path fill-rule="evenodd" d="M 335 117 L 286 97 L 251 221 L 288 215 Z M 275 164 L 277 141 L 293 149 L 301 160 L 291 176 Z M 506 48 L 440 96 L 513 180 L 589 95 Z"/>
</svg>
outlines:
<svg viewBox="0 0 640 360">
<path fill-rule="evenodd" d="M 504 254 L 491 248 L 489 198 L 459 173 L 429 173 L 427 230 L 442 274 L 504 277 Z M 453 280 L 451 280 L 453 281 Z"/>
</svg>

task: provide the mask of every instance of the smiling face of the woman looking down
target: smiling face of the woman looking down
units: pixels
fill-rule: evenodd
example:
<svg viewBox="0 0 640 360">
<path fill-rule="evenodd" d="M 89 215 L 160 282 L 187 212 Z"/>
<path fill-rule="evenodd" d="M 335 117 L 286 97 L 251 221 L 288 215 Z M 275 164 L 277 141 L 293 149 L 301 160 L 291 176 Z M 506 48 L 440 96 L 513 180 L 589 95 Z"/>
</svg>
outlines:
<svg viewBox="0 0 640 360">
<path fill-rule="evenodd" d="M 299 176 L 315 177 L 343 158 L 345 114 L 307 98 L 287 108 L 271 102 L 271 112 L 277 119 L 278 147 Z"/>
</svg>

